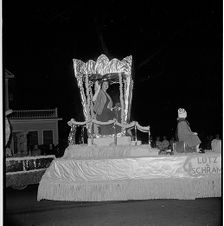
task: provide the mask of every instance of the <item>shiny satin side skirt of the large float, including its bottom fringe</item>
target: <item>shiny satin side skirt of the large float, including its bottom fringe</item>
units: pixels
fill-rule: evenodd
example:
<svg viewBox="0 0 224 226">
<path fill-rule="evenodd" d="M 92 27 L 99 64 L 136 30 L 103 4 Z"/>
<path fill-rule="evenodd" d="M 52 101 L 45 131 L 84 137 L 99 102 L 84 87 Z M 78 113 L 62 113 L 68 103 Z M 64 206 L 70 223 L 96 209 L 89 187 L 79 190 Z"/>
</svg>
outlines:
<svg viewBox="0 0 224 226">
<path fill-rule="evenodd" d="M 221 156 L 213 153 L 203 157 L 56 159 L 41 179 L 37 199 L 106 201 L 220 196 Z"/>
</svg>

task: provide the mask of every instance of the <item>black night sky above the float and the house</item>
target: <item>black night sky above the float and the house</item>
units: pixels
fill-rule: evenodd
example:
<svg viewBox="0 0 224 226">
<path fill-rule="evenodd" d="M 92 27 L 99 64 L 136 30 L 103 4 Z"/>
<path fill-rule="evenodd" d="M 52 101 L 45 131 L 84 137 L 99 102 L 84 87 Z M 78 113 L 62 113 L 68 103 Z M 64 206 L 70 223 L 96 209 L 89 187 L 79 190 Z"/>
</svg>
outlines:
<svg viewBox="0 0 224 226">
<path fill-rule="evenodd" d="M 67 128 L 70 118 L 83 120 L 72 59 L 132 55 L 133 120 L 149 124 L 152 135 L 170 135 L 183 107 L 199 135 L 221 133 L 222 22 L 221 1 L 5 0 L 3 63 L 15 74 L 12 108 L 58 107 Z"/>
</svg>

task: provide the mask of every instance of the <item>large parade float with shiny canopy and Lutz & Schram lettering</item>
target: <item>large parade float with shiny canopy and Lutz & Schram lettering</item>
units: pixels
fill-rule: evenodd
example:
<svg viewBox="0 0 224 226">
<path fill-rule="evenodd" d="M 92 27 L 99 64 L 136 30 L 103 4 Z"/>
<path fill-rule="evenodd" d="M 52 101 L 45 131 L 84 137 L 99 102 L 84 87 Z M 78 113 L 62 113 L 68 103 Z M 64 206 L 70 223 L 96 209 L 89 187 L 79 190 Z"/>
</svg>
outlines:
<svg viewBox="0 0 224 226">
<path fill-rule="evenodd" d="M 150 144 L 150 127 L 130 121 L 133 79 L 132 57 L 96 61 L 74 59 L 85 120 L 71 119 L 69 145 L 62 158 L 54 159 L 39 183 L 37 200 L 112 201 L 144 199 L 195 199 L 221 196 L 220 153 L 160 155 Z M 96 119 L 93 96 L 96 81 L 118 84 L 119 117 Z M 118 114 L 117 114 L 118 115 Z M 111 125 L 113 134 L 98 133 Z M 87 142 L 76 144 L 77 128 Z M 130 132 L 132 131 L 132 132 Z M 137 137 L 141 131 L 148 143 Z"/>
</svg>

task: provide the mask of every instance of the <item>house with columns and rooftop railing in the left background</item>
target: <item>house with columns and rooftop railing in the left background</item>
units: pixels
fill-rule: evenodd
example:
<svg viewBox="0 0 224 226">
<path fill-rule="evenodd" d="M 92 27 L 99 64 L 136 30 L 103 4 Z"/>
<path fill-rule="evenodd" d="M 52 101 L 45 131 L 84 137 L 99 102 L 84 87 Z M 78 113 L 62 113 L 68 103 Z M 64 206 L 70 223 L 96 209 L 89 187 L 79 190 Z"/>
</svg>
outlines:
<svg viewBox="0 0 224 226">
<path fill-rule="evenodd" d="M 15 110 L 12 107 L 13 93 L 9 82 L 14 75 L 5 70 L 4 107 L 5 112 L 12 109 L 7 116 L 11 125 L 11 137 L 7 147 L 13 156 L 26 156 L 40 145 L 56 146 L 59 142 L 57 108 L 41 110 Z"/>
</svg>

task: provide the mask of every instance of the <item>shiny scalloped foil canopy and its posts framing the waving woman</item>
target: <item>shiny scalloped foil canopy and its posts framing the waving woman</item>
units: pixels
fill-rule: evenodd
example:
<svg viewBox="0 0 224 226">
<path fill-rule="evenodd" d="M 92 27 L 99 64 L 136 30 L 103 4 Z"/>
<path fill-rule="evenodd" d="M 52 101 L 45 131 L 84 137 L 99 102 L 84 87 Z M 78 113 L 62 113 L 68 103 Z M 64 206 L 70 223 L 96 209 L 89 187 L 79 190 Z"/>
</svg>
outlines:
<svg viewBox="0 0 224 226">
<path fill-rule="evenodd" d="M 124 100 L 121 109 L 123 112 L 122 123 L 128 123 L 133 88 L 132 56 L 127 56 L 122 60 L 116 58 L 109 60 L 106 55 L 102 54 L 96 61 L 89 60 L 87 62 L 73 59 L 73 67 L 80 89 L 85 120 L 93 118 L 91 87 L 96 80 L 105 80 L 111 84 L 120 83 L 120 87 L 124 85 L 122 89 L 120 88 L 120 97 L 123 97 Z"/>
</svg>

